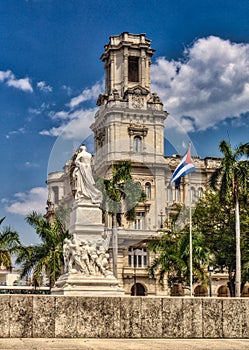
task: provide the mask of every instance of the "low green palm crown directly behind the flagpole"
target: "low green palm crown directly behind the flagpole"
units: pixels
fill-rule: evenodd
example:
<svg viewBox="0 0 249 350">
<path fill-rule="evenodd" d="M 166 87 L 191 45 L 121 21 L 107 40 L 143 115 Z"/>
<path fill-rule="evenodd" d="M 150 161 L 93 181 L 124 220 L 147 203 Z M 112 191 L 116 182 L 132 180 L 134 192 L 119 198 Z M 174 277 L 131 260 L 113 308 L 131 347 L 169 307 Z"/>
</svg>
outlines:
<svg viewBox="0 0 249 350">
<path fill-rule="evenodd" d="M 178 207 L 178 214 L 180 211 L 181 207 Z M 168 231 L 148 242 L 149 250 L 155 254 L 148 268 L 149 276 L 154 278 L 158 274 L 162 287 L 165 275 L 168 277 L 169 286 L 174 283 L 189 284 L 190 282 L 189 225 L 185 225 L 182 230 L 175 230 L 178 214 L 171 218 Z M 205 244 L 203 234 L 198 230 L 192 231 L 192 249 L 194 281 L 206 284 L 206 266 L 210 251 Z"/>
</svg>

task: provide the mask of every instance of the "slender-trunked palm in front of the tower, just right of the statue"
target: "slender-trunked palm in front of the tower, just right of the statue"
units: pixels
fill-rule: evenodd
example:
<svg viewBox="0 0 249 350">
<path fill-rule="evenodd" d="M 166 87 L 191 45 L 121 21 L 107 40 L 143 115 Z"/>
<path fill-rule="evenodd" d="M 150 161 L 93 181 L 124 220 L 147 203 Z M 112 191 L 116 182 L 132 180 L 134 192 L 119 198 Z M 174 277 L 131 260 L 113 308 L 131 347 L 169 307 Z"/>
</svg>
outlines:
<svg viewBox="0 0 249 350">
<path fill-rule="evenodd" d="M 111 178 L 102 179 L 98 187 L 103 194 L 103 208 L 112 216 L 113 273 L 117 277 L 117 222 L 121 220 L 121 213 L 125 213 L 128 221 L 134 220 L 135 207 L 146 196 L 140 184 L 132 179 L 130 161 L 113 165 Z"/>
</svg>

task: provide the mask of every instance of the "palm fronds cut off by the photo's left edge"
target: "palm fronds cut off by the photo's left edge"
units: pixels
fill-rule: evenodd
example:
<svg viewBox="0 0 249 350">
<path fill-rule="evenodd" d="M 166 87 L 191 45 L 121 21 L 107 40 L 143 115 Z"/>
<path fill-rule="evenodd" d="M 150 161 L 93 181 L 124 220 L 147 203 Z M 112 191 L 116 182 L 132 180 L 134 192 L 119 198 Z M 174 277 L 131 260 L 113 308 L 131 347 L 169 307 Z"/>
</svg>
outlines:
<svg viewBox="0 0 249 350">
<path fill-rule="evenodd" d="M 0 225 L 4 219 L 5 217 L 0 219 Z M 12 231 L 10 227 L 3 228 L 2 232 L 0 232 L 0 265 L 11 271 L 11 256 L 19 251 L 20 245 L 18 233 Z"/>
</svg>

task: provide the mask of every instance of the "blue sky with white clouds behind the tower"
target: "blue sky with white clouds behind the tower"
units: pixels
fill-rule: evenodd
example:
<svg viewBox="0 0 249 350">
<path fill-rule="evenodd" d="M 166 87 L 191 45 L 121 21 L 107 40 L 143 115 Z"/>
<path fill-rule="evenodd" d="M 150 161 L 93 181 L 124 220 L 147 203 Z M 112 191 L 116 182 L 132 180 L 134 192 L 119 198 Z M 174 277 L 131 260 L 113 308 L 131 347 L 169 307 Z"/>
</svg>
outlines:
<svg viewBox="0 0 249 350">
<path fill-rule="evenodd" d="M 1 0 L 0 217 L 24 243 L 44 211 L 48 171 L 91 140 L 104 92 L 100 61 L 109 36 L 146 33 L 156 50 L 152 90 L 170 113 L 167 155 L 187 141 L 200 157 L 220 140 L 248 142 L 248 0 Z M 170 145 L 171 143 L 171 145 Z"/>
</svg>

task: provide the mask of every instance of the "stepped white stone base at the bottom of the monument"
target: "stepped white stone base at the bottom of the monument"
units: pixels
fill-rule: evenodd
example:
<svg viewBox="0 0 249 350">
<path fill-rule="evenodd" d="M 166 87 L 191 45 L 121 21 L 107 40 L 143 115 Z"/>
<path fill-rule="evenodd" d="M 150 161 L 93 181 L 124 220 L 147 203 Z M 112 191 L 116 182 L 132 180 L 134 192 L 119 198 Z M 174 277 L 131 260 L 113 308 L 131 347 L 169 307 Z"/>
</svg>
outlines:
<svg viewBox="0 0 249 350">
<path fill-rule="evenodd" d="M 82 276 L 80 273 L 62 275 L 51 291 L 52 295 L 122 296 L 124 290 L 113 276 Z"/>
</svg>

